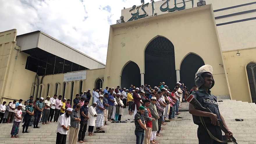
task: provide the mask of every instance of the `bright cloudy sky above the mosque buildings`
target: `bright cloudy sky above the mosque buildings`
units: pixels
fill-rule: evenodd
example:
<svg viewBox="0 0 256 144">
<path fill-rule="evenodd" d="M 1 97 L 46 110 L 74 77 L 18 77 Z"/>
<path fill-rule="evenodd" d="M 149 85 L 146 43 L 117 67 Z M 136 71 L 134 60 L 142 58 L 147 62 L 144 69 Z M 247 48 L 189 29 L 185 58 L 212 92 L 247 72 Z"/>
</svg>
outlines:
<svg viewBox="0 0 256 144">
<path fill-rule="evenodd" d="M 145 0 L 150 2 L 150 0 Z M 0 0 L 0 32 L 43 31 L 106 63 L 109 26 L 140 0 Z"/>
</svg>

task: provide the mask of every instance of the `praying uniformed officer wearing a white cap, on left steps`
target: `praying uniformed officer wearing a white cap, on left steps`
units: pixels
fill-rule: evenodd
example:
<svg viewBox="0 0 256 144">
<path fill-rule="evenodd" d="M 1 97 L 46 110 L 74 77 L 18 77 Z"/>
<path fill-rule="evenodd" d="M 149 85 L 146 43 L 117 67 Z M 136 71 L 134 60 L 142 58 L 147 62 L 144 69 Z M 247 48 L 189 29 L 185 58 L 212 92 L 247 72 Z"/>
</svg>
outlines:
<svg viewBox="0 0 256 144">
<path fill-rule="evenodd" d="M 38 123 L 41 118 L 42 111 L 44 110 L 44 98 L 41 97 L 39 101 L 35 102 L 35 120 L 34 120 L 34 128 L 39 128 Z"/>
</svg>

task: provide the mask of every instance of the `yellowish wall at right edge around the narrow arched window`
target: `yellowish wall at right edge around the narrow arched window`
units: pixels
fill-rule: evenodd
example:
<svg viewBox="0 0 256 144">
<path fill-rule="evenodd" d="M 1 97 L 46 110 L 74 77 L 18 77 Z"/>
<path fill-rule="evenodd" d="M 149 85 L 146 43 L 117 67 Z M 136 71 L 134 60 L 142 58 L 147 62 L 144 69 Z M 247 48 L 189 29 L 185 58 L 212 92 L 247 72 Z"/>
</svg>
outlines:
<svg viewBox="0 0 256 144">
<path fill-rule="evenodd" d="M 256 63 L 256 47 L 251 49 L 240 49 L 239 53 L 240 56 L 237 56 L 237 51 L 223 52 L 230 91 L 233 99 L 241 100 L 243 102 L 252 102 L 246 65 L 250 62 Z"/>
</svg>

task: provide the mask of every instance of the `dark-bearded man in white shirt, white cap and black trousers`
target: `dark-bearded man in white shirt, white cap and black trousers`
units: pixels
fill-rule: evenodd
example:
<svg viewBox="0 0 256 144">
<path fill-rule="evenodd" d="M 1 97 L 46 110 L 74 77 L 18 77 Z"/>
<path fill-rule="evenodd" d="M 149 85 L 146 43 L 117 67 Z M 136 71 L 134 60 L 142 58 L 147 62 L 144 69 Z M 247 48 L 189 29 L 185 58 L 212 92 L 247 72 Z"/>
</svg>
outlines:
<svg viewBox="0 0 256 144">
<path fill-rule="evenodd" d="M 70 127 L 70 114 L 72 113 L 72 110 L 73 109 L 71 108 L 67 108 L 66 113 L 58 118 L 56 144 L 66 144 L 67 131 Z"/>
</svg>

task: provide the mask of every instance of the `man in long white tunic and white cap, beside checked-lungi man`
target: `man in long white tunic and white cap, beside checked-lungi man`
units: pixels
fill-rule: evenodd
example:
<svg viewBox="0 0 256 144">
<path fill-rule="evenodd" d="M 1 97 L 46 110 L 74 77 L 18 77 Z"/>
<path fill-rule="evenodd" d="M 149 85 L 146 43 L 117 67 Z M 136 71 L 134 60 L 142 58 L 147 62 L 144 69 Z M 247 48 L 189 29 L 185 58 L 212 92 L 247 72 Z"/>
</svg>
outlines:
<svg viewBox="0 0 256 144">
<path fill-rule="evenodd" d="M 96 113 L 96 106 L 97 106 L 97 102 L 94 102 L 92 106 L 89 107 L 88 109 L 88 136 L 94 136 L 93 135 L 93 127 L 95 126 L 95 121 L 96 121 L 96 117 L 97 117 L 97 113 Z"/>
</svg>

